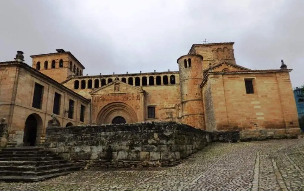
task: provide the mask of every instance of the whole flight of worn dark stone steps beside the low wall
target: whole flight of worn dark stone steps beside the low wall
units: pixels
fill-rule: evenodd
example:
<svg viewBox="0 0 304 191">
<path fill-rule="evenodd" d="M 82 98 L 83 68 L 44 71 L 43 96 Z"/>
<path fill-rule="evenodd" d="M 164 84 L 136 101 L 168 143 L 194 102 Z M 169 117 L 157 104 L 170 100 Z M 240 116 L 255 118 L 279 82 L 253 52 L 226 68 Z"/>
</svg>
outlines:
<svg viewBox="0 0 304 191">
<path fill-rule="evenodd" d="M 37 182 L 79 169 L 79 166 L 43 147 L 0 150 L 0 182 Z"/>
</svg>

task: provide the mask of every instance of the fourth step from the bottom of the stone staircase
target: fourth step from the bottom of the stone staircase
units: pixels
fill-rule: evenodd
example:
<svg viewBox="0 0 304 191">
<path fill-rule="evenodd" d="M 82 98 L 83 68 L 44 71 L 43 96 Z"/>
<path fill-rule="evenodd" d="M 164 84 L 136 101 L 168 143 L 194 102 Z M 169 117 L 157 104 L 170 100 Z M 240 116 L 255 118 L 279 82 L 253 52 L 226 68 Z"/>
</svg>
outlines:
<svg viewBox="0 0 304 191">
<path fill-rule="evenodd" d="M 24 166 L 24 165 L 34 165 L 34 166 L 44 166 L 44 165 L 57 165 L 66 163 L 67 160 L 50 160 L 50 161 L 0 161 L 0 166 Z"/>
</svg>

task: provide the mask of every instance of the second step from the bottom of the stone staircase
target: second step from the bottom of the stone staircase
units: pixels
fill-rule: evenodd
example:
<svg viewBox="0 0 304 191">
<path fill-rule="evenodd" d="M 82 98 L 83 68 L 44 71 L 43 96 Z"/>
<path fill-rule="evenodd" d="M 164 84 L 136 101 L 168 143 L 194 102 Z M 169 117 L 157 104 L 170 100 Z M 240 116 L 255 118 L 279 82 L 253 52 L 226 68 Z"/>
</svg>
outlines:
<svg viewBox="0 0 304 191">
<path fill-rule="evenodd" d="M 65 171 L 75 171 L 75 170 L 79 170 L 79 169 L 80 169 L 80 167 L 78 167 L 78 166 L 70 166 L 70 167 L 63 167 L 63 168 L 58 168 L 58 169 L 41 170 L 38 172 L 1 170 L 0 176 L 44 176 L 44 175 L 48 175 L 48 174 L 65 172 Z"/>
</svg>

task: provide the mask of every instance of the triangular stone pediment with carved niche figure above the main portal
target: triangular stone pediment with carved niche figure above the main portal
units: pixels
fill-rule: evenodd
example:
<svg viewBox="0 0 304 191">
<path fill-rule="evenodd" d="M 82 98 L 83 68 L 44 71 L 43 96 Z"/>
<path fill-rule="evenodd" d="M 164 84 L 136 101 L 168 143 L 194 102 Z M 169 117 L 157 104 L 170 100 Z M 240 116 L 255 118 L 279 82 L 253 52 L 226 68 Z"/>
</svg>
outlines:
<svg viewBox="0 0 304 191">
<path fill-rule="evenodd" d="M 121 94 L 121 93 L 139 93 L 144 92 L 142 88 L 126 84 L 119 80 L 114 80 L 109 84 L 99 87 L 91 92 L 90 95 L 96 94 Z"/>
</svg>

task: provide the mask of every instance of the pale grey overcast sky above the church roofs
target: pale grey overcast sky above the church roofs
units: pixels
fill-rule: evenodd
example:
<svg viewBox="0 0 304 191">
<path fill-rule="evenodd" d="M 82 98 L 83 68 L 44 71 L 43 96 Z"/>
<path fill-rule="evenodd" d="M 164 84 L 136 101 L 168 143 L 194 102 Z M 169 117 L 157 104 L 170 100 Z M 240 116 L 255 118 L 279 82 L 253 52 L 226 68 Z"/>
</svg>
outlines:
<svg viewBox="0 0 304 191">
<path fill-rule="evenodd" d="M 233 41 L 237 64 L 304 84 L 303 0 L 1 0 L 0 60 L 71 51 L 84 75 L 178 70 L 192 44 Z"/>
</svg>

